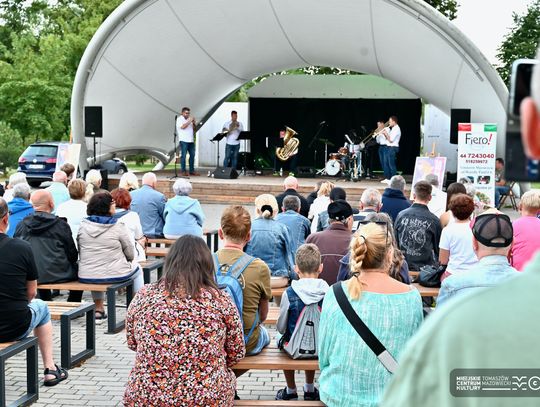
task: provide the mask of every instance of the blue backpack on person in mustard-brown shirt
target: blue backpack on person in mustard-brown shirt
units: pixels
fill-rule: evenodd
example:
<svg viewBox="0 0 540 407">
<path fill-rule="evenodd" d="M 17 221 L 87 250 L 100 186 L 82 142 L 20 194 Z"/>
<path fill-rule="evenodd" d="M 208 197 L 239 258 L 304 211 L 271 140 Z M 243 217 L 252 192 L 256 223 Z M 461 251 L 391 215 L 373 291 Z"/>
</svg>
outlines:
<svg viewBox="0 0 540 407">
<path fill-rule="evenodd" d="M 244 327 L 244 320 L 242 318 L 242 308 L 244 305 L 244 292 L 242 285 L 238 280 L 244 270 L 255 260 L 255 257 L 250 256 L 247 253 L 244 253 L 238 260 L 236 260 L 232 265 L 229 264 L 219 264 L 219 259 L 217 253 L 213 254 L 214 257 L 214 267 L 216 269 L 216 283 L 220 289 L 225 291 L 231 300 L 234 302 L 238 314 L 240 315 L 240 321 L 242 321 L 242 327 Z M 255 327 L 259 324 L 259 312 L 255 313 L 255 321 L 249 330 L 249 333 L 246 335 L 244 333 L 244 343 L 249 342 L 249 338 L 253 334 Z"/>
</svg>

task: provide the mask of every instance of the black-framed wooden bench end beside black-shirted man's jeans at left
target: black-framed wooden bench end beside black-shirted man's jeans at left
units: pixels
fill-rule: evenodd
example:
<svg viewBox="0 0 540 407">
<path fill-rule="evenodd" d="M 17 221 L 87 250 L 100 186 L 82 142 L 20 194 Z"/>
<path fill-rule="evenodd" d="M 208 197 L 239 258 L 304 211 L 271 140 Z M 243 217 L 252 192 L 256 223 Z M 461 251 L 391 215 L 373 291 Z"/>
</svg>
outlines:
<svg viewBox="0 0 540 407">
<path fill-rule="evenodd" d="M 79 366 L 96 354 L 96 318 L 94 303 L 46 301 L 51 319 L 60 321 L 60 359 L 67 369 Z M 86 347 L 71 355 L 71 321 L 86 315 Z"/>
</svg>

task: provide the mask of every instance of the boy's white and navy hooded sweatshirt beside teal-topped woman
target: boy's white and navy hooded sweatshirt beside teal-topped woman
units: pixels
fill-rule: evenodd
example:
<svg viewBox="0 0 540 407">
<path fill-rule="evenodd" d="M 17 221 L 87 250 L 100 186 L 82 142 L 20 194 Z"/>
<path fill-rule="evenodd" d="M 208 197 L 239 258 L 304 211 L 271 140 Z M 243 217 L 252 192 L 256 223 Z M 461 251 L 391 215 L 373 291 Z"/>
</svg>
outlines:
<svg viewBox="0 0 540 407">
<path fill-rule="evenodd" d="M 293 290 L 294 293 L 300 298 L 303 305 L 316 304 L 324 298 L 324 295 L 328 291 L 328 283 L 320 278 L 301 278 L 300 280 L 293 280 L 291 287 L 289 287 L 281 296 L 281 305 L 279 307 L 279 317 L 277 321 L 278 332 L 285 334 L 287 327 L 296 325 L 296 320 L 300 314 L 299 311 L 292 312 L 291 303 L 289 301 L 289 295 L 287 291 Z M 295 320 L 289 320 L 289 315 Z M 291 335 L 292 332 L 289 332 Z"/>
</svg>

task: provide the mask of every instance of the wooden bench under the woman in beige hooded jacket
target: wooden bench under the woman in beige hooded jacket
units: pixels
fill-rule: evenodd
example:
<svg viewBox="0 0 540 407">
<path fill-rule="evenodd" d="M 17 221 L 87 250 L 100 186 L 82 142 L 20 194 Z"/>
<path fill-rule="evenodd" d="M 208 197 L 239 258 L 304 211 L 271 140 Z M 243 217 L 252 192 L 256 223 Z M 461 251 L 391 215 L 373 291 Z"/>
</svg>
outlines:
<svg viewBox="0 0 540 407">
<path fill-rule="evenodd" d="M 38 289 L 46 290 L 75 290 L 75 291 L 99 291 L 107 295 L 107 333 L 114 334 L 124 329 L 124 320 L 116 322 L 116 295 L 121 288 L 126 289 L 126 307 L 133 299 L 133 280 L 129 279 L 114 284 L 87 284 L 79 281 L 67 283 L 38 284 Z"/>
</svg>

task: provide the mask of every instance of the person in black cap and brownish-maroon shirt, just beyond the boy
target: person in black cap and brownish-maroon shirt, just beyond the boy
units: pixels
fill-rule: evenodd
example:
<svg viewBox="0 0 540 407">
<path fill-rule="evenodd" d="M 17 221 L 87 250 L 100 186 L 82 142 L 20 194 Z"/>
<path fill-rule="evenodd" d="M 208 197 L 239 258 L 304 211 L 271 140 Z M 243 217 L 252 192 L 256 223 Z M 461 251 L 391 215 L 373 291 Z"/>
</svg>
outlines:
<svg viewBox="0 0 540 407">
<path fill-rule="evenodd" d="M 306 243 L 313 243 L 321 252 L 323 271 L 320 275 L 329 285 L 337 281 L 339 261 L 349 250 L 352 237 L 352 208 L 345 201 L 328 205 L 330 226 L 328 229 L 309 235 Z"/>
</svg>

